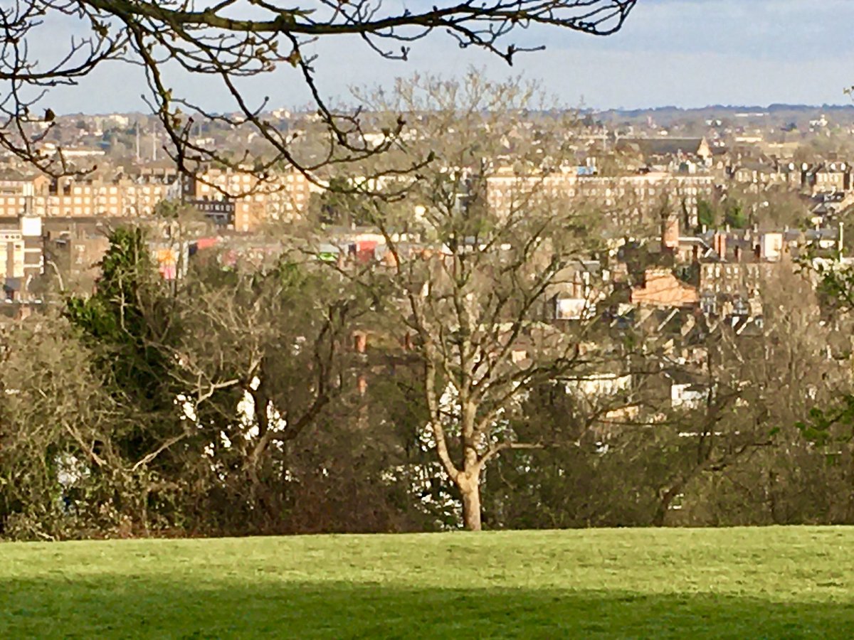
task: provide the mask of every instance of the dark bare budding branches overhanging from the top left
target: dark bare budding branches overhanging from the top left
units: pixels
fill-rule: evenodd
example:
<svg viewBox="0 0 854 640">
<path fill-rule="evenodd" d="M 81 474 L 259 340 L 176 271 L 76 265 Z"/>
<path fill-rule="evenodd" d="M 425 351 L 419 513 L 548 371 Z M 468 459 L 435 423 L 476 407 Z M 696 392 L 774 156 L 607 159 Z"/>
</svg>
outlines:
<svg viewBox="0 0 854 640">
<path fill-rule="evenodd" d="M 518 27 L 608 35 L 623 26 L 635 2 L 464 0 L 407 9 L 382 0 L 317 0 L 305 6 L 268 0 L 15 0 L 0 9 L 0 79 L 5 84 L 0 147 L 54 175 L 75 171 L 61 150 L 44 149 L 56 118 L 50 89 L 77 84 L 104 63 L 120 61 L 143 69 L 148 84 L 143 97 L 167 132 L 168 151 L 181 169 L 211 160 L 242 166 L 249 160 L 246 154 L 226 154 L 194 142 L 194 121 L 205 120 L 252 131 L 266 143 L 266 160 L 254 159 L 259 176 L 284 161 L 313 177 L 320 167 L 388 149 L 404 125 L 401 119 L 386 125 L 383 140 L 369 143 L 359 109 L 331 107 L 313 67 L 313 45 L 319 40 L 346 38 L 348 46 L 360 40 L 383 58 L 406 60 L 414 42 L 441 31 L 462 48 L 486 49 L 512 63 L 516 53 L 541 48 L 513 44 L 510 38 Z M 58 28 L 82 33 L 50 58 L 45 45 L 55 41 Z M 325 151 L 311 159 L 297 157 L 295 136 L 265 113 L 267 100 L 252 102 L 243 91 L 244 79 L 272 77 L 277 67 L 290 68 L 290 79 L 307 87 L 324 125 Z M 233 113 L 214 112 L 175 88 L 197 74 L 225 90 Z"/>
</svg>

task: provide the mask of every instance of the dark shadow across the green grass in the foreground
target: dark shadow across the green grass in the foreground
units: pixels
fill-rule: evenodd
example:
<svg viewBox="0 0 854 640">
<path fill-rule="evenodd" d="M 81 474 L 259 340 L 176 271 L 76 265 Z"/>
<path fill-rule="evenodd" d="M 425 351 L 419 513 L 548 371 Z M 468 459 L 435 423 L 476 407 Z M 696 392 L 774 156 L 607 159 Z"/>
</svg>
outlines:
<svg viewBox="0 0 854 640">
<path fill-rule="evenodd" d="M 852 602 L 126 579 L 0 583 L 0 637 L 851 637 Z"/>
</svg>

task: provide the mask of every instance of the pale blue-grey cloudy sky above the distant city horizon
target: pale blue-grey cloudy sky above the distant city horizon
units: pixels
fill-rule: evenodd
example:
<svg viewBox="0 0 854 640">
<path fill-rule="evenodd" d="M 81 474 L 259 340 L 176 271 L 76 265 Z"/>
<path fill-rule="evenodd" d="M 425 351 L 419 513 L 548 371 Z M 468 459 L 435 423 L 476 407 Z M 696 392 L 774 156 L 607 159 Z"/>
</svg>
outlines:
<svg viewBox="0 0 854 640">
<path fill-rule="evenodd" d="M 521 73 L 540 80 L 570 107 L 846 104 L 843 91 L 854 84 L 852 24 L 854 0 L 639 0 L 623 30 L 606 38 L 547 27 L 520 32 L 525 42 L 547 49 L 518 55 L 513 67 L 459 49 L 442 33 L 414 44 L 407 62 L 385 61 L 352 38 L 332 38 L 317 45 L 315 67 L 325 95 L 343 100 L 350 86 L 389 84 L 416 71 L 453 76 L 476 67 L 494 79 Z M 59 27 L 51 35 L 50 46 L 67 42 Z M 172 80 L 210 108 L 232 108 L 197 78 Z M 143 89 L 135 69 L 113 63 L 79 87 L 55 90 L 50 102 L 59 113 L 146 111 Z M 272 107 L 307 103 L 293 73 L 249 82 L 245 90 L 255 101 L 269 96 Z"/>
</svg>

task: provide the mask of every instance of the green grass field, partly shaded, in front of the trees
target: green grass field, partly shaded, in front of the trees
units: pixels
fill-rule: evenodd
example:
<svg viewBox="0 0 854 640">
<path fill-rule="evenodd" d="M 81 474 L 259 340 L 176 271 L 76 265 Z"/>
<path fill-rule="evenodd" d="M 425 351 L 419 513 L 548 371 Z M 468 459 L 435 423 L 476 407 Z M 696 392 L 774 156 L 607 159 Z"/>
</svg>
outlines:
<svg viewBox="0 0 854 640">
<path fill-rule="evenodd" d="M 854 637 L 854 529 L 0 544 L 0 637 Z"/>
</svg>

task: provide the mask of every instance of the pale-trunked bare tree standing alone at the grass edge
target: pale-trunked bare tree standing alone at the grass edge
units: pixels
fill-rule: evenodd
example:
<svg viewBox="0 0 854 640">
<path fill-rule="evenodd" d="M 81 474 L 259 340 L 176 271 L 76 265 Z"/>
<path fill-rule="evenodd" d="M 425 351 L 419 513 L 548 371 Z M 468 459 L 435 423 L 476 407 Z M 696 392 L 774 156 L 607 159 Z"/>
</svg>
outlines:
<svg viewBox="0 0 854 640">
<path fill-rule="evenodd" d="M 373 201 L 389 267 L 358 274 L 392 288 L 388 315 L 403 324 L 422 367 L 430 446 L 471 530 L 481 528 L 488 463 L 502 451 L 548 444 L 518 441 L 507 428 L 529 387 L 601 366 L 591 323 L 550 322 L 569 263 L 601 238 L 560 186 L 574 161 L 561 145 L 572 123 L 553 112 L 526 123 L 522 114 L 545 113 L 536 97 L 535 86 L 492 84 L 477 73 L 459 83 L 401 82 L 393 108 L 418 114 L 419 123 L 407 148 L 430 145 L 436 163 L 418 173 L 404 201 Z M 490 207 L 489 179 L 508 152 L 516 176 L 508 202 Z"/>
</svg>

